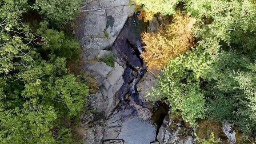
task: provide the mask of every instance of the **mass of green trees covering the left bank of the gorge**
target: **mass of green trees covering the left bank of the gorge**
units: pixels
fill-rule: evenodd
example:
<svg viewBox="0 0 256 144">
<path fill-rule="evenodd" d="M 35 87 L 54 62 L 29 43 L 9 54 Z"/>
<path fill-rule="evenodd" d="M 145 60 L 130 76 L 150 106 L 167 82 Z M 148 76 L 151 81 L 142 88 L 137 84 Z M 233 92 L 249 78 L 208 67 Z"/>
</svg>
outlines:
<svg viewBox="0 0 256 144">
<path fill-rule="evenodd" d="M 0 143 L 72 143 L 72 130 L 61 119 L 79 115 L 88 94 L 66 68 L 79 43 L 48 22 L 31 28 L 23 19 L 31 10 L 27 0 L 0 5 Z M 55 14 L 60 25 L 71 20 Z"/>
</svg>

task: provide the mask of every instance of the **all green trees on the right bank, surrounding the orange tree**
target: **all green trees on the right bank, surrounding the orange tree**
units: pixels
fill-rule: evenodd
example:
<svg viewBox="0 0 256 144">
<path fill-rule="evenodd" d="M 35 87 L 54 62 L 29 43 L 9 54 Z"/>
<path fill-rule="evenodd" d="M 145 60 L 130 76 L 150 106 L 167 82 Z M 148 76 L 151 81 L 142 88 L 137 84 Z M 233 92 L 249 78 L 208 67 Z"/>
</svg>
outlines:
<svg viewBox="0 0 256 144">
<path fill-rule="evenodd" d="M 138 1 L 152 11 L 157 8 L 153 1 Z M 255 1 L 182 2 L 182 12 L 197 19 L 192 29 L 197 40 L 196 48 L 170 60 L 158 85 L 153 88 L 153 99 L 168 98 L 172 111 L 178 112 L 191 124 L 202 117 L 228 120 L 236 124 L 236 128 L 246 136 L 255 135 Z M 160 3 L 165 4 L 164 8 L 171 9 L 169 14 L 180 10 L 176 2 Z M 168 13 L 157 9 L 159 11 L 156 12 Z"/>
</svg>

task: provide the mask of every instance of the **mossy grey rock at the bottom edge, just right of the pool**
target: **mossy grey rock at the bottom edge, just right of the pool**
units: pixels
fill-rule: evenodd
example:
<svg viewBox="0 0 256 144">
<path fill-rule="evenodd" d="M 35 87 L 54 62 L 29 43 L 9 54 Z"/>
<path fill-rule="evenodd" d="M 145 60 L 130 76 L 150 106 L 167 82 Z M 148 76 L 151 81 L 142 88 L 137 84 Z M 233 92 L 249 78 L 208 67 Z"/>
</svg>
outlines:
<svg viewBox="0 0 256 144">
<path fill-rule="evenodd" d="M 181 120 L 172 120 L 169 114 L 164 118 L 157 140 L 160 144 L 195 144 L 191 130 L 185 128 Z"/>
</svg>

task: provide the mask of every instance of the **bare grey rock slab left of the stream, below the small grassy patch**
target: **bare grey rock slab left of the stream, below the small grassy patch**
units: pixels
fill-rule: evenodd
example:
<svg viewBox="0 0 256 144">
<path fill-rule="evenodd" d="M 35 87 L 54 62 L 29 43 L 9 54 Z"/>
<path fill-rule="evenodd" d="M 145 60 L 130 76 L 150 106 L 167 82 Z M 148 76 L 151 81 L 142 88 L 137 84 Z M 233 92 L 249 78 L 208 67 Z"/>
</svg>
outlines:
<svg viewBox="0 0 256 144">
<path fill-rule="evenodd" d="M 89 96 L 89 106 L 108 117 L 119 102 L 116 92 L 124 84 L 124 68 L 116 62 L 114 68 L 104 62 L 92 62 L 86 64 L 84 69 L 94 75 L 100 85 L 100 92 Z"/>
</svg>

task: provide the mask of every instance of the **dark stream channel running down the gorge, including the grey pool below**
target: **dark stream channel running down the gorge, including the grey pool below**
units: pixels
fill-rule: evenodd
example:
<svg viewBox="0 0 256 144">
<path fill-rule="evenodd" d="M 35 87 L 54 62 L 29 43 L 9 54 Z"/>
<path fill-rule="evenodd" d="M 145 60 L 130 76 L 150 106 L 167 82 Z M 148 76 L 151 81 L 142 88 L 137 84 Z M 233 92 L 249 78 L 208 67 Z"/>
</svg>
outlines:
<svg viewBox="0 0 256 144">
<path fill-rule="evenodd" d="M 112 52 L 120 59 L 121 65 L 124 70 L 124 85 L 116 93 L 120 98 L 119 114 L 123 115 L 125 109 L 133 109 L 132 103 L 140 106 L 145 106 L 143 100 L 139 98 L 136 90 L 136 84 L 144 76 L 146 72 L 146 65 L 140 58 L 142 53 L 141 33 L 146 31 L 147 24 L 141 20 L 137 20 L 136 16 L 128 18 L 124 28 L 117 37 L 112 46 Z M 154 120 L 142 120 L 137 117 L 136 109 L 134 109 L 132 116 L 128 119 L 123 119 L 120 134 L 117 139 L 123 139 L 125 144 L 149 144 L 156 140 L 158 128 L 162 124 L 164 116 L 167 115 L 168 108 L 160 108 L 161 112 L 157 109 L 154 111 Z M 167 110 L 166 110 L 167 109 Z"/>
</svg>

